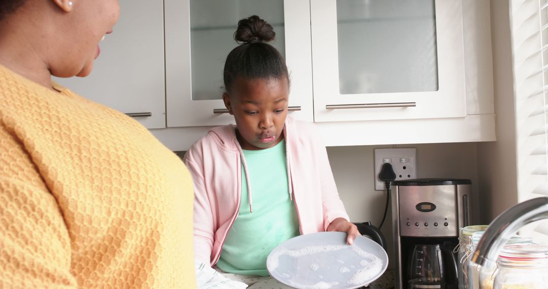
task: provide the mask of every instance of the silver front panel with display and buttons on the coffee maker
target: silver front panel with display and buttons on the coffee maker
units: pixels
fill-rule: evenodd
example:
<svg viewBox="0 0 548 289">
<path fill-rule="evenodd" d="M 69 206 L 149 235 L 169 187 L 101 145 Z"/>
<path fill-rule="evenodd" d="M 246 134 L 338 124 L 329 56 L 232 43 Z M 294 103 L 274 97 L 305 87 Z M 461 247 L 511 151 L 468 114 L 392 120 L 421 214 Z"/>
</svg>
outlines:
<svg viewBox="0 0 548 289">
<path fill-rule="evenodd" d="M 458 236 L 456 195 L 454 186 L 447 186 L 448 192 L 442 193 L 440 187 L 436 192 L 413 194 L 399 191 L 399 235 L 401 236 Z M 412 189 L 413 187 L 408 187 Z M 433 187 L 432 187 L 433 189 Z M 403 191 L 403 192 L 402 192 Z"/>
</svg>

